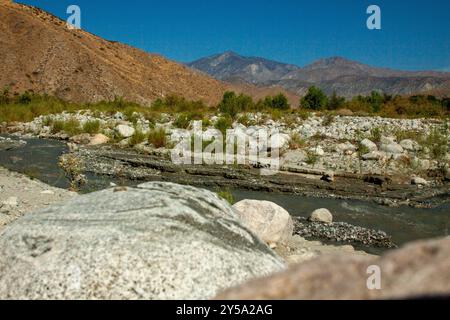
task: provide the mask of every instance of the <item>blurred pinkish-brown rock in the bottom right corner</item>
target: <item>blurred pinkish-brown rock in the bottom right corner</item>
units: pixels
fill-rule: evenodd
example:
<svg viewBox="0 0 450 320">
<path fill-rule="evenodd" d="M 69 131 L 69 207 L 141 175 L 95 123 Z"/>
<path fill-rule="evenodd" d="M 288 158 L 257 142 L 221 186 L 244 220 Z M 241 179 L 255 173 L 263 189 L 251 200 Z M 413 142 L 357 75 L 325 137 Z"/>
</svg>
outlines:
<svg viewBox="0 0 450 320">
<path fill-rule="evenodd" d="M 376 279 L 378 274 L 380 282 Z M 269 278 L 229 289 L 218 299 L 361 300 L 443 296 L 450 296 L 450 238 L 410 244 L 381 258 L 323 255 Z"/>
</svg>

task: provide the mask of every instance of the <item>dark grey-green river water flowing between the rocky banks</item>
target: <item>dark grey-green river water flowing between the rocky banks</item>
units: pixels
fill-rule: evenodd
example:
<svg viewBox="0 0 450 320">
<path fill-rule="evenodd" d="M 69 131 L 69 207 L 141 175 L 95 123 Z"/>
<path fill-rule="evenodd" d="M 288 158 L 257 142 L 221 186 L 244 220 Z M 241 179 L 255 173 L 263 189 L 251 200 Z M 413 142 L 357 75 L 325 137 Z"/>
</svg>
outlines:
<svg viewBox="0 0 450 320">
<path fill-rule="evenodd" d="M 60 141 L 25 139 L 23 147 L 0 150 L 0 165 L 10 170 L 25 173 L 45 183 L 68 188 L 69 181 L 58 166 L 58 157 L 67 152 L 66 144 Z M 113 177 L 88 176 L 89 184 L 84 192 L 108 187 L 110 182 L 124 183 Z M 128 181 L 132 185 L 134 182 Z M 327 208 L 335 221 L 383 230 L 392 235 L 393 241 L 404 244 L 417 239 L 448 235 L 450 227 L 450 203 L 433 209 L 410 207 L 390 208 L 373 202 L 319 199 L 290 194 L 264 193 L 247 190 L 233 190 L 235 200 L 267 200 L 279 204 L 291 215 L 308 217 L 318 208 Z"/>
</svg>

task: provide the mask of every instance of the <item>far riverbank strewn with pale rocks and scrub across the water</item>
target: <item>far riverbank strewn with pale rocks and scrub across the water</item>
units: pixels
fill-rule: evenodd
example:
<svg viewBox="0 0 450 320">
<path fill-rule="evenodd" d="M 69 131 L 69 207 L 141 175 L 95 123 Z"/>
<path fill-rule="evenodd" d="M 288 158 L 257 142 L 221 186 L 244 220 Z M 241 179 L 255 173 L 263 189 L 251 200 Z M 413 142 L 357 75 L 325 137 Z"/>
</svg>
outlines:
<svg viewBox="0 0 450 320">
<path fill-rule="evenodd" d="M 232 124 L 233 133 L 251 138 L 261 130 L 272 132 L 280 147 L 279 174 L 264 177 L 258 163 L 176 166 L 169 158 L 169 144 L 181 137 L 174 116 L 162 114 L 156 123 L 137 113 L 132 117 L 131 121 L 120 112 L 63 113 L 30 123 L 5 124 L 3 130 L 70 139 L 73 155 L 84 171 L 124 180 L 161 179 L 201 187 L 373 200 L 390 206 L 432 207 L 450 200 L 448 129 L 439 120 L 313 115 L 307 119 L 293 116 L 288 121 L 247 114 L 246 125 Z M 211 118 L 205 134 L 218 119 Z M 55 123 L 61 126 L 64 121 L 74 121 L 80 128 L 96 122 L 101 133 L 71 137 L 55 130 Z M 164 130 L 165 147 L 155 147 L 146 139 L 152 128 Z"/>
</svg>

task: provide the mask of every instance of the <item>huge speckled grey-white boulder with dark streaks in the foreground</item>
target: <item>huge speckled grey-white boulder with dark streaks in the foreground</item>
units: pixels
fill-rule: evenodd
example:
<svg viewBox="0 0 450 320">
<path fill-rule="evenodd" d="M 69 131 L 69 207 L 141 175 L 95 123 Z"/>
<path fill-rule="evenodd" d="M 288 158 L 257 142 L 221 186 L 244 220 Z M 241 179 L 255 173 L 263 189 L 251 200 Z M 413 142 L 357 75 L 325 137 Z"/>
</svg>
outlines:
<svg viewBox="0 0 450 320">
<path fill-rule="evenodd" d="M 207 299 L 283 267 L 225 201 L 171 183 L 79 196 L 0 234 L 0 299 Z"/>
</svg>

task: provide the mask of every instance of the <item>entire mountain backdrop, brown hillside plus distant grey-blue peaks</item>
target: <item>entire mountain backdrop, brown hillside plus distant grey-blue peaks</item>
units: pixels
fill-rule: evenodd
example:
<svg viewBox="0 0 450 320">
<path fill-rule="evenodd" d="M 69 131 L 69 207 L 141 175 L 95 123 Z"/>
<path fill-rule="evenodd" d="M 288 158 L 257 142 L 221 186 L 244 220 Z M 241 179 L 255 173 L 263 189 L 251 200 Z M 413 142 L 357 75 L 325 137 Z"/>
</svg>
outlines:
<svg viewBox="0 0 450 320">
<path fill-rule="evenodd" d="M 292 105 L 311 85 L 344 96 L 372 90 L 450 93 L 450 73 L 406 72 L 343 58 L 306 67 L 226 52 L 188 65 L 105 40 L 39 8 L 0 0 L 0 90 L 55 95 L 72 102 L 123 97 L 144 105 L 170 94 L 217 104 L 223 93 L 254 99 L 282 92 Z"/>
</svg>

